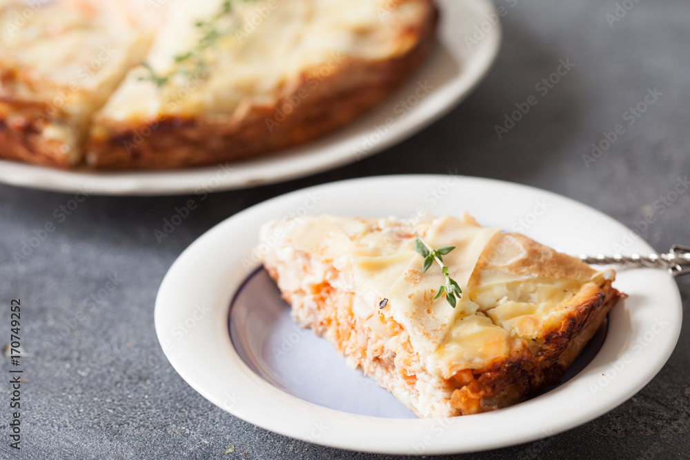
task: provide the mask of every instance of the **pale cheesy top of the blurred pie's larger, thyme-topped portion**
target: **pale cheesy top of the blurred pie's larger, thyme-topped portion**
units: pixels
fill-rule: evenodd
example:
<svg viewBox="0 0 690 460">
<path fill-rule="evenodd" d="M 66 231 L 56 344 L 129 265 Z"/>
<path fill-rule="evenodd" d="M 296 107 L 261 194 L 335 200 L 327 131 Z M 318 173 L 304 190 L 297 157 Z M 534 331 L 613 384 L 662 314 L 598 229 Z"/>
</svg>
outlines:
<svg viewBox="0 0 690 460">
<path fill-rule="evenodd" d="M 231 14 L 218 18 L 223 3 L 170 1 L 174 8 L 146 59 L 168 80 L 157 88 L 146 80 L 146 68 L 135 68 L 102 117 L 142 121 L 204 113 L 221 122 L 233 113 L 241 117 L 248 106 L 272 106 L 276 93 L 303 75 L 318 85 L 346 59 L 402 54 L 414 43 L 392 38 L 415 23 L 424 8 L 417 0 L 396 2 L 393 8 L 388 0 L 233 1 Z M 208 21 L 219 36 L 199 50 L 207 29 L 198 24 Z M 190 60 L 179 59 L 188 52 L 203 61 L 202 77 L 194 76 L 199 68 L 189 66 Z"/>
</svg>

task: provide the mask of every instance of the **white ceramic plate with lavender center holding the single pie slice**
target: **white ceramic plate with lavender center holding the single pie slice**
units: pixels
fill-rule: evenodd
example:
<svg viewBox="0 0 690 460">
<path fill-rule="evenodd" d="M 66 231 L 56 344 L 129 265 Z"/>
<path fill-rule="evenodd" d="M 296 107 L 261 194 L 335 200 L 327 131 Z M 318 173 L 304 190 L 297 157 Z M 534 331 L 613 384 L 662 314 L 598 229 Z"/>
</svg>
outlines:
<svg viewBox="0 0 690 460">
<path fill-rule="evenodd" d="M 608 330 L 598 334 L 601 345 L 589 347 L 590 356 L 580 359 L 581 370 L 568 381 L 495 412 L 408 418 L 387 392 L 355 371 L 343 373 L 342 358 L 326 341 L 286 322 L 275 288 L 250 275 L 258 266 L 253 247 L 259 226 L 270 219 L 306 212 L 412 217 L 418 208 L 437 215 L 467 210 L 480 223 L 522 230 L 571 254 L 652 251 L 598 211 L 502 181 L 388 176 L 297 190 L 219 223 L 173 263 L 155 306 L 156 331 L 170 363 L 209 401 L 267 430 L 351 450 L 440 454 L 509 446 L 590 421 L 638 392 L 676 346 L 682 306 L 671 275 L 621 269 L 615 286 L 629 297 L 609 314 Z M 240 294 L 230 312 L 239 290 L 250 295 L 239 301 Z"/>
</svg>

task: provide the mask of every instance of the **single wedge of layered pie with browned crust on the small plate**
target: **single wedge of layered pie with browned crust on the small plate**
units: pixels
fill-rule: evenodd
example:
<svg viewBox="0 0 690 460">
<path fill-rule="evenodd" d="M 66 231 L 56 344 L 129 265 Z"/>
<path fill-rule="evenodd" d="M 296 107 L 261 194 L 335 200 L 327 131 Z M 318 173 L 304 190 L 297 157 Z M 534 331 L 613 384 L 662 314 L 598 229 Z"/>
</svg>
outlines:
<svg viewBox="0 0 690 460">
<path fill-rule="evenodd" d="M 444 256 L 463 291 L 455 309 L 434 299 L 442 274 L 419 271 L 415 232 L 456 246 Z M 265 226 L 268 237 L 279 242 L 264 267 L 293 319 L 420 417 L 495 410 L 558 383 L 621 295 L 612 271 L 471 219 L 307 218 Z"/>
</svg>

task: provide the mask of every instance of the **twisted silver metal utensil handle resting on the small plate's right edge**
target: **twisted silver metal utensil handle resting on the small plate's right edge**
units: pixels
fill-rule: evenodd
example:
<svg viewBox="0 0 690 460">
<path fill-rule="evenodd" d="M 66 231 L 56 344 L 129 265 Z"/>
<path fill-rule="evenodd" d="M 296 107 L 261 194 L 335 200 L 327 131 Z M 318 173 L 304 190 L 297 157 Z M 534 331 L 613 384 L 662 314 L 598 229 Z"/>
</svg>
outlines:
<svg viewBox="0 0 690 460">
<path fill-rule="evenodd" d="M 690 274 L 690 247 L 680 246 L 679 244 L 671 246 L 671 252 L 666 254 L 649 254 L 648 256 L 641 256 L 640 254 L 631 254 L 629 256 L 598 254 L 594 257 L 582 254 L 580 259 L 584 263 L 591 263 L 592 265 L 666 268 L 674 277 Z"/>
</svg>

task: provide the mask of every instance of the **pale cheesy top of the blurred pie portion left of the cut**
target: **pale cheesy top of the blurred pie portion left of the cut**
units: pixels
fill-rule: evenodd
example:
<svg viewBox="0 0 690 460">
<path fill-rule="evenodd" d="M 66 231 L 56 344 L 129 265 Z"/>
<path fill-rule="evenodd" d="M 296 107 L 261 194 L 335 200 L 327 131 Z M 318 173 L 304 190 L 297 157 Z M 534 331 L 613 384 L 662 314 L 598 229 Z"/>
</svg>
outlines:
<svg viewBox="0 0 690 460">
<path fill-rule="evenodd" d="M 143 38 L 137 32 L 141 23 L 135 12 L 110 2 L 35 3 L 38 6 L 17 0 L 0 2 L 1 57 L 30 67 L 59 85 L 97 88 L 115 71 L 114 63 L 126 58 L 130 42 Z M 142 44 L 144 51 L 148 43 Z M 75 90 L 70 88 L 70 92 Z"/>
</svg>

